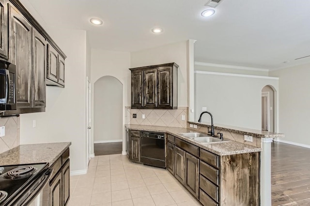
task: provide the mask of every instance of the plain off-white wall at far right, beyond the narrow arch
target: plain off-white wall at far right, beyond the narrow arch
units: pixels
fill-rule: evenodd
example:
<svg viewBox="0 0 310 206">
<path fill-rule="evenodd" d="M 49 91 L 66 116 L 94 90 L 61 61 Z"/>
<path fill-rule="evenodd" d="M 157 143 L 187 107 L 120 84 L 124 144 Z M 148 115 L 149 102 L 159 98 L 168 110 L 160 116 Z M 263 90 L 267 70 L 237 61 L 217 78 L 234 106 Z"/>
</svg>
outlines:
<svg viewBox="0 0 310 206">
<path fill-rule="evenodd" d="M 270 72 L 279 77 L 279 132 L 310 147 L 310 64 Z M 282 139 L 282 138 L 281 138 Z"/>
</svg>

